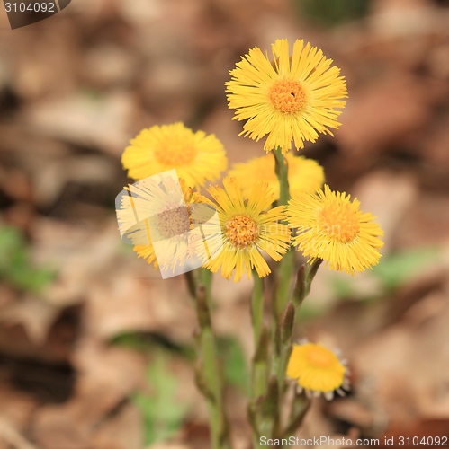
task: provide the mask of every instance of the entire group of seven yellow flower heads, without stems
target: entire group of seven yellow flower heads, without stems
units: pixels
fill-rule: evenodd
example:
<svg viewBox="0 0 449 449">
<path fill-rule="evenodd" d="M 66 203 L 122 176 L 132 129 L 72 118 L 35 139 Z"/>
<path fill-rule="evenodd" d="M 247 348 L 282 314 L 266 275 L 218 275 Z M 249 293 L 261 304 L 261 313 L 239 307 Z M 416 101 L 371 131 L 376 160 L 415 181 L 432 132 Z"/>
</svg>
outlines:
<svg viewBox="0 0 449 449">
<path fill-rule="evenodd" d="M 374 217 L 361 211 L 357 198 L 323 186 L 319 163 L 291 151 L 319 134 L 333 136 L 346 104 L 345 78 L 303 40 L 294 42 L 292 54 L 286 39 L 271 49 L 271 57 L 250 49 L 226 83 L 234 119 L 244 121 L 240 135 L 266 137 L 267 154 L 235 163 L 222 186 L 209 183 L 228 167 L 223 145 L 179 122 L 143 129 L 122 154 L 123 167 L 138 182 L 121 198 L 119 225 L 155 268 L 175 272 L 199 260 L 196 266 L 238 282 L 252 272 L 267 276 L 268 262 L 294 248 L 310 265 L 325 261 L 351 275 L 379 262 L 382 229 Z M 345 363 L 309 342 L 292 346 L 286 374 L 311 396 L 331 398 L 348 386 Z"/>
</svg>

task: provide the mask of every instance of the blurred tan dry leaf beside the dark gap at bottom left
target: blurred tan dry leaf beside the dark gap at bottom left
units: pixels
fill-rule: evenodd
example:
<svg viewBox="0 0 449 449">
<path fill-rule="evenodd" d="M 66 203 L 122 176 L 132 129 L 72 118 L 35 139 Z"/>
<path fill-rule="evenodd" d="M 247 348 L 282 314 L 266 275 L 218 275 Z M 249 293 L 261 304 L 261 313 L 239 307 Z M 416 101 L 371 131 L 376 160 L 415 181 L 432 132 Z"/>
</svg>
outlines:
<svg viewBox="0 0 449 449">
<path fill-rule="evenodd" d="M 143 383 L 145 361 L 129 350 L 86 339 L 73 358 L 79 373 L 73 398 L 44 406 L 33 423 L 43 449 L 92 447 L 99 424 Z"/>
</svg>

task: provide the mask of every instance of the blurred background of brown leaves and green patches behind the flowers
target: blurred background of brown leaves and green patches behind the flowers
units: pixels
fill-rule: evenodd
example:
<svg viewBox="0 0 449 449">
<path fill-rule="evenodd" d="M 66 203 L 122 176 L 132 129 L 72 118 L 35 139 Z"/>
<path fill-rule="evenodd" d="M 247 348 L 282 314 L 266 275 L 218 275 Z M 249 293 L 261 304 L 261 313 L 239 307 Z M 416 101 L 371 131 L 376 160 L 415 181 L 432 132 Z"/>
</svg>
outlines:
<svg viewBox="0 0 449 449">
<path fill-rule="evenodd" d="M 378 267 L 321 269 L 301 311 L 297 338 L 341 348 L 353 391 L 314 401 L 299 435 L 449 434 L 449 2 L 72 0 L 14 31 L 0 12 L 0 449 L 209 447 L 184 278 L 157 279 L 117 231 L 121 152 L 181 120 L 229 164 L 261 155 L 224 83 L 278 38 L 346 76 L 342 127 L 303 154 L 385 231 Z M 250 287 L 214 280 L 242 449 Z"/>
</svg>

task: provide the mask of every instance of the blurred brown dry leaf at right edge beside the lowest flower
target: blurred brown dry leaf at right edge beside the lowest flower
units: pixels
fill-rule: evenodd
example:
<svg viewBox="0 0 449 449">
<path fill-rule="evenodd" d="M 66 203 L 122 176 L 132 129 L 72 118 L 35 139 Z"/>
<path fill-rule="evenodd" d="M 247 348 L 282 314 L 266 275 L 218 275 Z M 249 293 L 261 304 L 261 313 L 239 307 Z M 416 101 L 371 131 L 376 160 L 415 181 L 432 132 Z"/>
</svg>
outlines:
<svg viewBox="0 0 449 449">
<path fill-rule="evenodd" d="M 355 392 L 371 409 L 383 410 L 391 426 L 449 418 L 449 303 L 430 294 L 402 321 L 355 347 Z M 371 385 L 371 386 L 370 386 Z"/>
</svg>

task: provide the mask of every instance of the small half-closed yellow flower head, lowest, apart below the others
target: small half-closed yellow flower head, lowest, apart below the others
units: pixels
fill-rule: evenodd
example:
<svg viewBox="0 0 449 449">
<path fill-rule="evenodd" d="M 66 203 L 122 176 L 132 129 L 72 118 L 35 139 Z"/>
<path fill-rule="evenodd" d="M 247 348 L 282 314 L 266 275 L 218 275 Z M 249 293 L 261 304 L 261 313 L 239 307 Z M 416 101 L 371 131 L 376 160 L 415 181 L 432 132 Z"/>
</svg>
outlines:
<svg viewBox="0 0 449 449">
<path fill-rule="evenodd" d="M 297 381 L 300 392 L 304 390 L 308 396 L 323 393 L 326 399 L 332 399 L 335 391 L 344 395 L 342 388 L 349 387 L 346 374 L 344 362 L 323 345 L 293 344 L 287 376 Z"/>
</svg>

